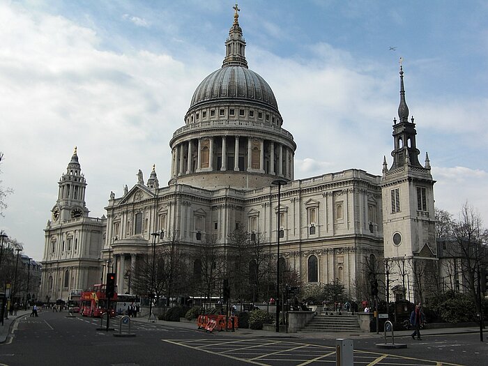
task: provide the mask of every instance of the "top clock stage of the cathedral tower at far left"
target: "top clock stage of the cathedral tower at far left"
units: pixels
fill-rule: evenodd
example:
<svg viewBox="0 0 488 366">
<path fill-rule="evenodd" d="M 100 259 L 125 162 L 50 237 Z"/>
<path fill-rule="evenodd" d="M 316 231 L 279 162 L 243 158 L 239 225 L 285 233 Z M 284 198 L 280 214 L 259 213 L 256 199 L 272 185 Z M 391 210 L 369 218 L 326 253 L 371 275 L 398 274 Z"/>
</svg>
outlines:
<svg viewBox="0 0 488 366">
<path fill-rule="evenodd" d="M 52 221 L 56 223 L 88 216 L 85 203 L 86 180 L 78 162 L 76 147 L 66 174 L 59 178 L 58 184 L 58 199 L 52 208 Z"/>
</svg>

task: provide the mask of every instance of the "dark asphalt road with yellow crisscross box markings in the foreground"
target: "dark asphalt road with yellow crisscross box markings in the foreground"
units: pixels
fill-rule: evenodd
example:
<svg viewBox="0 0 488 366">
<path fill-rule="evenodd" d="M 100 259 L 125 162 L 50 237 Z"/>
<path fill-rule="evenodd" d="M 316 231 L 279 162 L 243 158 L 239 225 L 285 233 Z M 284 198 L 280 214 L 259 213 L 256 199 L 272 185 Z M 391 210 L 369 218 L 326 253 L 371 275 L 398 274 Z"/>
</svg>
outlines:
<svg viewBox="0 0 488 366">
<path fill-rule="evenodd" d="M 112 322 L 115 328 L 119 321 Z M 0 366 L 16 365 L 335 365 L 335 340 L 257 337 L 259 332 L 204 333 L 195 328 L 132 322 L 136 337 L 97 330 L 100 319 L 43 312 L 15 323 L 0 345 Z M 395 337 L 407 349 L 376 347 L 379 336 L 354 339 L 354 365 L 484 365 L 488 343 L 478 334 Z M 61 365 L 60 365 L 61 366 Z"/>
</svg>

